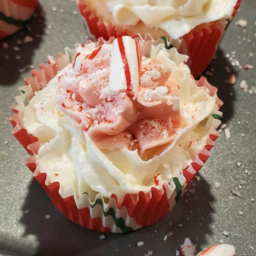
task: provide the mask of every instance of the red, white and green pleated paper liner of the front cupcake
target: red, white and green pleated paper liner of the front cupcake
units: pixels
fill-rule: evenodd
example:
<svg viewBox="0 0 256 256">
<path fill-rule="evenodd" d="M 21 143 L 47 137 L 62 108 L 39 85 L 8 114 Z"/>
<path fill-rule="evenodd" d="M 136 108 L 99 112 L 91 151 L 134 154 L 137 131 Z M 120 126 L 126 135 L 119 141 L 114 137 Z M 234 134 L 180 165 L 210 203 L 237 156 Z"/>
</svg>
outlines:
<svg viewBox="0 0 256 256">
<path fill-rule="evenodd" d="M 139 39 L 139 38 L 138 38 Z M 137 40 L 138 40 L 137 39 Z M 102 38 L 97 42 L 97 46 L 103 43 L 112 43 L 113 38 L 105 42 Z M 144 52 L 151 49 L 151 44 L 156 41 L 141 41 L 141 48 Z M 144 47 L 143 47 L 144 46 Z M 58 54 L 58 58 L 49 60 L 49 64 L 41 64 L 41 70 L 32 70 L 32 78 L 26 78 L 26 86 L 20 87 L 20 96 L 16 97 L 17 105 L 12 106 L 14 115 L 10 122 L 14 126 L 12 133 L 23 147 L 32 154 L 26 160 L 26 165 L 33 172 L 33 176 L 48 193 L 54 206 L 71 221 L 82 227 L 101 232 L 128 232 L 146 227 L 163 218 L 174 207 L 180 199 L 181 194 L 189 185 L 193 177 L 198 173 L 204 162 L 210 156 L 209 150 L 215 145 L 215 140 L 219 133 L 215 130 L 220 121 L 221 112 L 218 111 L 222 105 L 221 100 L 216 97 L 216 105 L 212 113 L 208 116 L 205 127 L 208 131 L 206 145 L 195 157 L 186 169 L 182 170 L 179 177 L 173 177 L 172 181 L 164 183 L 162 189 L 151 188 L 149 194 L 139 192 L 137 198 L 131 194 L 126 194 L 120 201 L 117 195 L 112 194 L 106 198 L 99 193 L 92 201 L 87 192 L 77 199 L 73 189 L 68 189 L 65 194 L 61 194 L 61 184 L 51 183 L 47 179 L 47 173 L 42 173 L 36 163 L 36 155 L 40 148 L 37 137 L 28 134 L 23 128 L 23 111 L 34 93 L 41 90 L 47 83 L 55 77 L 59 70 L 62 70 L 74 59 L 74 52 L 66 49 L 66 54 Z M 198 87 L 206 87 L 211 96 L 216 96 L 217 89 L 211 86 L 205 78 L 196 81 Z"/>
</svg>

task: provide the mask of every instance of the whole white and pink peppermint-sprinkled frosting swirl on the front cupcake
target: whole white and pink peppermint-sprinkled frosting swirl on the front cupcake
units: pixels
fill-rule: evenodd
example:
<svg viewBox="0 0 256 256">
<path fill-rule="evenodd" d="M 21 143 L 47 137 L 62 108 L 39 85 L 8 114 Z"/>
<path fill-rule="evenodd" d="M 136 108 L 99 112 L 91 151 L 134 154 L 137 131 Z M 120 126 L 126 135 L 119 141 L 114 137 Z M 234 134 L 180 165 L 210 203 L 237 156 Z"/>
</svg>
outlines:
<svg viewBox="0 0 256 256">
<path fill-rule="evenodd" d="M 73 63 L 24 109 L 23 127 L 41 143 L 40 172 L 61 184 L 64 197 L 72 189 L 76 198 L 87 192 L 122 200 L 126 193 L 161 189 L 206 145 L 216 96 L 197 86 L 188 57 L 163 44 L 122 40 L 126 60 L 122 52 L 122 58 L 111 58 L 120 50 L 116 41 L 77 47 Z M 130 79 L 138 76 L 139 87 L 124 89 L 122 76 L 133 64 Z M 111 73 L 118 79 L 110 80 Z"/>
</svg>

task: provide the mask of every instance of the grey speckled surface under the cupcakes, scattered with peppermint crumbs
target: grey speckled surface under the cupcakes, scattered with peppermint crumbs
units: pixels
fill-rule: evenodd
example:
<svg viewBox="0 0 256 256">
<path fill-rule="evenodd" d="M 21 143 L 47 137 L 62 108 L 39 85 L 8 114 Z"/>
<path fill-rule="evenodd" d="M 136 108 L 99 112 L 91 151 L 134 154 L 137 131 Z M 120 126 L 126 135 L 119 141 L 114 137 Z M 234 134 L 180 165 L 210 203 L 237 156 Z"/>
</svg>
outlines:
<svg viewBox="0 0 256 256">
<path fill-rule="evenodd" d="M 47 55 L 56 56 L 64 47 L 85 41 L 74 1 L 40 0 L 26 29 L 0 41 L 0 255 L 144 256 L 152 251 L 153 256 L 175 256 L 186 237 L 197 244 L 198 252 L 221 241 L 233 244 L 237 256 L 256 255 L 256 94 L 250 91 L 256 87 L 255 12 L 255 0 L 242 0 L 217 58 L 207 69 L 209 82 L 218 87 L 224 101 L 222 121 L 230 139 L 221 132 L 200 180 L 193 180 L 165 218 L 134 233 L 105 233 L 100 239 L 101 233 L 72 223 L 53 207 L 25 166 L 29 154 L 12 136 L 8 122 L 10 106 L 23 78 L 30 76 L 30 66 L 38 69 Z M 247 27 L 235 25 L 241 18 Z M 27 35 L 33 41 L 20 44 Z M 245 64 L 254 67 L 244 70 Z M 225 81 L 233 73 L 232 86 Z M 248 84 L 247 92 L 240 88 L 242 80 Z M 232 189 L 242 197 L 233 195 Z M 140 247 L 139 241 L 144 242 Z"/>
</svg>

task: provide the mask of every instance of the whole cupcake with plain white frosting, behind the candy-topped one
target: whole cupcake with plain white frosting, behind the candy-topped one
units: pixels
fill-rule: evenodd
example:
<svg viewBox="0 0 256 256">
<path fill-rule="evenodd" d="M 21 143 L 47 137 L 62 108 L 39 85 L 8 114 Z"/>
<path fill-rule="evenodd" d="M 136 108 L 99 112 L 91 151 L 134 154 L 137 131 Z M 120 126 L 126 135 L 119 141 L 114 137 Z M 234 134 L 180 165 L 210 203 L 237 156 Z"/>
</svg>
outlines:
<svg viewBox="0 0 256 256">
<path fill-rule="evenodd" d="M 77 0 L 89 38 L 134 36 L 164 38 L 189 56 L 194 77 L 212 60 L 241 0 Z"/>
</svg>

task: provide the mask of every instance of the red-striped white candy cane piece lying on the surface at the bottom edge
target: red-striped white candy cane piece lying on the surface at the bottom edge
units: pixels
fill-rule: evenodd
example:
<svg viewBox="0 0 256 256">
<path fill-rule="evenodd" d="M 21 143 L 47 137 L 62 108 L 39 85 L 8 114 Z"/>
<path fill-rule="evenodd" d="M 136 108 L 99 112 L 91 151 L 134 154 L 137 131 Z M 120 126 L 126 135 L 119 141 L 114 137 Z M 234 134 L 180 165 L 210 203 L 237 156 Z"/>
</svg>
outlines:
<svg viewBox="0 0 256 256">
<path fill-rule="evenodd" d="M 216 244 L 200 253 L 197 256 L 235 256 L 235 247 L 230 244 Z"/>
</svg>

